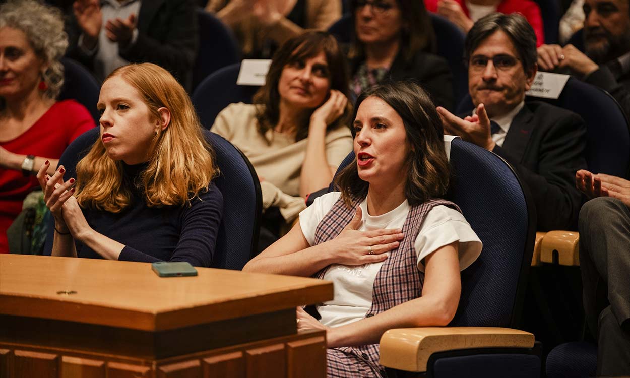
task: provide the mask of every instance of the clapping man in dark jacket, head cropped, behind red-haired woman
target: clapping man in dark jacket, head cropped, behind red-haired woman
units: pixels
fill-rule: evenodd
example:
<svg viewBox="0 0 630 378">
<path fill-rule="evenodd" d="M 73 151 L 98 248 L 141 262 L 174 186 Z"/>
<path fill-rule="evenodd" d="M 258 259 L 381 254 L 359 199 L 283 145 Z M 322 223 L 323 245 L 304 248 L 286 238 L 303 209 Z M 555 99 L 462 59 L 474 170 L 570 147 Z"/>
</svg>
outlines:
<svg viewBox="0 0 630 378">
<path fill-rule="evenodd" d="M 67 26 L 69 57 L 102 81 L 114 69 L 151 62 L 190 88 L 198 48 L 192 0 L 77 0 Z"/>
</svg>

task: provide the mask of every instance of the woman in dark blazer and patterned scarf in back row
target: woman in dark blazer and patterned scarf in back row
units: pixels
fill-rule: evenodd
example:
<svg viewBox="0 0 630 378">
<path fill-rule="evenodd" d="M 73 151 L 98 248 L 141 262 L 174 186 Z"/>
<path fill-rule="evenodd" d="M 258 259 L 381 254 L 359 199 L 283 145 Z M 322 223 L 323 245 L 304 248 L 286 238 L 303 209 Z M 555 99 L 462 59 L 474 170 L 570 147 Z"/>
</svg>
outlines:
<svg viewBox="0 0 630 378">
<path fill-rule="evenodd" d="M 449 65 L 435 55 L 435 33 L 421 1 L 354 1 L 348 54 L 351 88 L 358 96 L 384 79 L 415 79 L 437 105 L 454 106 Z"/>
</svg>

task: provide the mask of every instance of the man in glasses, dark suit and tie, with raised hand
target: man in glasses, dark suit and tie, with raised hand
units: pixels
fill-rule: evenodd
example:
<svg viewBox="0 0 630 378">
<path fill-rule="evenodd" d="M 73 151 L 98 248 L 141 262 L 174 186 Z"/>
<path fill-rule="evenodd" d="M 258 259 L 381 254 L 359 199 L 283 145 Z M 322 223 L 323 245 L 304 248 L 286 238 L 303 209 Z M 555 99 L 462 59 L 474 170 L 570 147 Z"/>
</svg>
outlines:
<svg viewBox="0 0 630 378">
<path fill-rule="evenodd" d="M 536 76 L 536 35 L 520 14 L 493 13 L 466 36 L 469 93 L 475 109 L 459 118 L 438 113 L 446 134 L 503 157 L 532 193 L 539 231 L 575 230 L 585 168 L 586 127 L 580 116 L 539 101 L 525 103 Z"/>
</svg>

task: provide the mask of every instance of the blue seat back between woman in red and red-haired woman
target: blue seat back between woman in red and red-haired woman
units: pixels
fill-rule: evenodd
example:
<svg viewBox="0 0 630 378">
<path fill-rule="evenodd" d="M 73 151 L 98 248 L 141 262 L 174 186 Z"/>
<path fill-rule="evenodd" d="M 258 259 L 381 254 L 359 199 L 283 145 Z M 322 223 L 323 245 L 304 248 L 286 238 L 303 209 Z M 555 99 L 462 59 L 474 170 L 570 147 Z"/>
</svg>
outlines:
<svg viewBox="0 0 630 378">
<path fill-rule="evenodd" d="M 64 86 L 61 87 L 59 101 L 75 100 L 85 106 L 98 125 L 100 114 L 96 109 L 101 86 L 92 74 L 75 60 L 62 58 L 64 65 Z"/>
</svg>

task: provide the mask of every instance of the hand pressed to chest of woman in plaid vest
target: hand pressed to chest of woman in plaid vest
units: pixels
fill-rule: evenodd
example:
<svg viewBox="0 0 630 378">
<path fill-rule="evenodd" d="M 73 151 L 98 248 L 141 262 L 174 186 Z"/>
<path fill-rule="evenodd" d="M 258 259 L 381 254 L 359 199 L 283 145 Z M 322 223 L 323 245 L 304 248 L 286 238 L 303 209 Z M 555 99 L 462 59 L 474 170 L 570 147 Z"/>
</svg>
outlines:
<svg viewBox="0 0 630 378">
<path fill-rule="evenodd" d="M 364 265 L 384 261 L 387 258 L 386 252 L 398 248 L 403 240 L 404 236 L 399 229 L 357 231 L 361 222 L 362 210 L 358 207 L 348 226 L 335 239 L 326 242 L 335 251 L 336 264 Z"/>
</svg>

